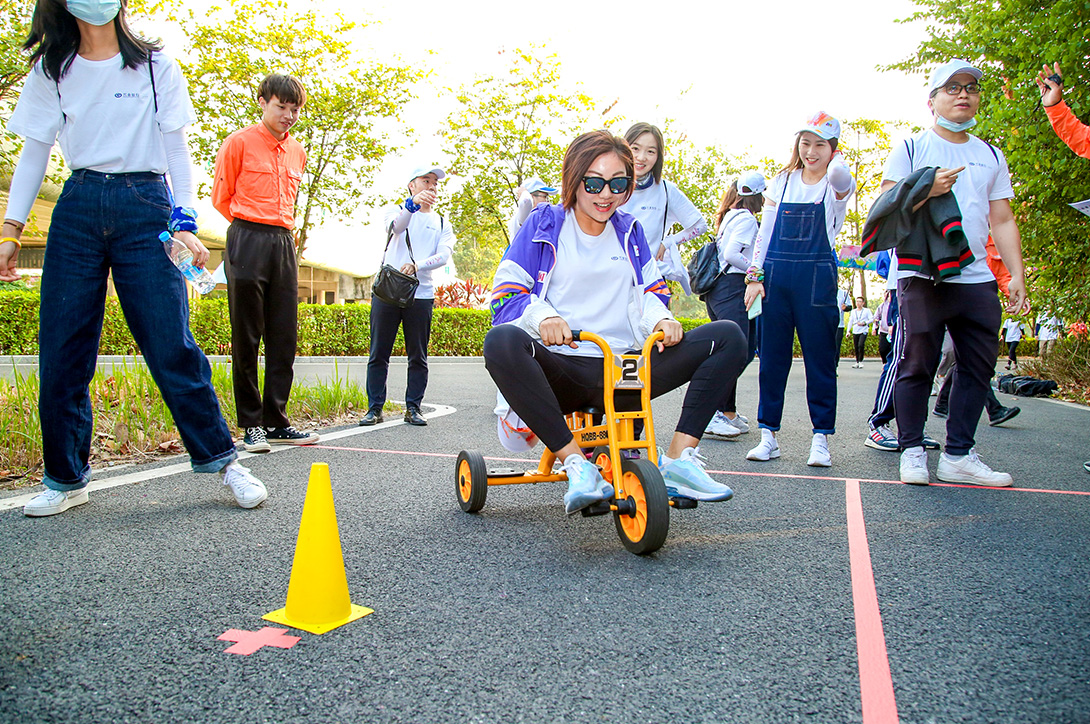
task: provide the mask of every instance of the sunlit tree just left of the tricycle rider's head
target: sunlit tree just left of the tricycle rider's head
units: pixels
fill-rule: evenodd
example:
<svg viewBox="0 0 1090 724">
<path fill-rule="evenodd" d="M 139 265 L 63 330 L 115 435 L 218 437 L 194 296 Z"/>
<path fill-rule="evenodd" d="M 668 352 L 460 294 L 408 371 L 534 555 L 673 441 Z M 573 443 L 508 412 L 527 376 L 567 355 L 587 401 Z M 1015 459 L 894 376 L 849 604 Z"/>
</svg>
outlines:
<svg viewBox="0 0 1090 724">
<path fill-rule="evenodd" d="M 535 176 L 559 188 L 569 136 L 586 129 L 594 114 L 589 96 L 559 89 L 556 56 L 535 52 L 504 51 L 510 60 L 506 73 L 451 90 L 461 108 L 439 132 L 450 172 L 464 180 L 444 204 L 459 237 L 455 264 L 463 276 L 485 283 L 511 241 L 507 221 L 517 190 Z M 598 116 L 600 128 L 608 124 L 608 110 Z"/>
</svg>

